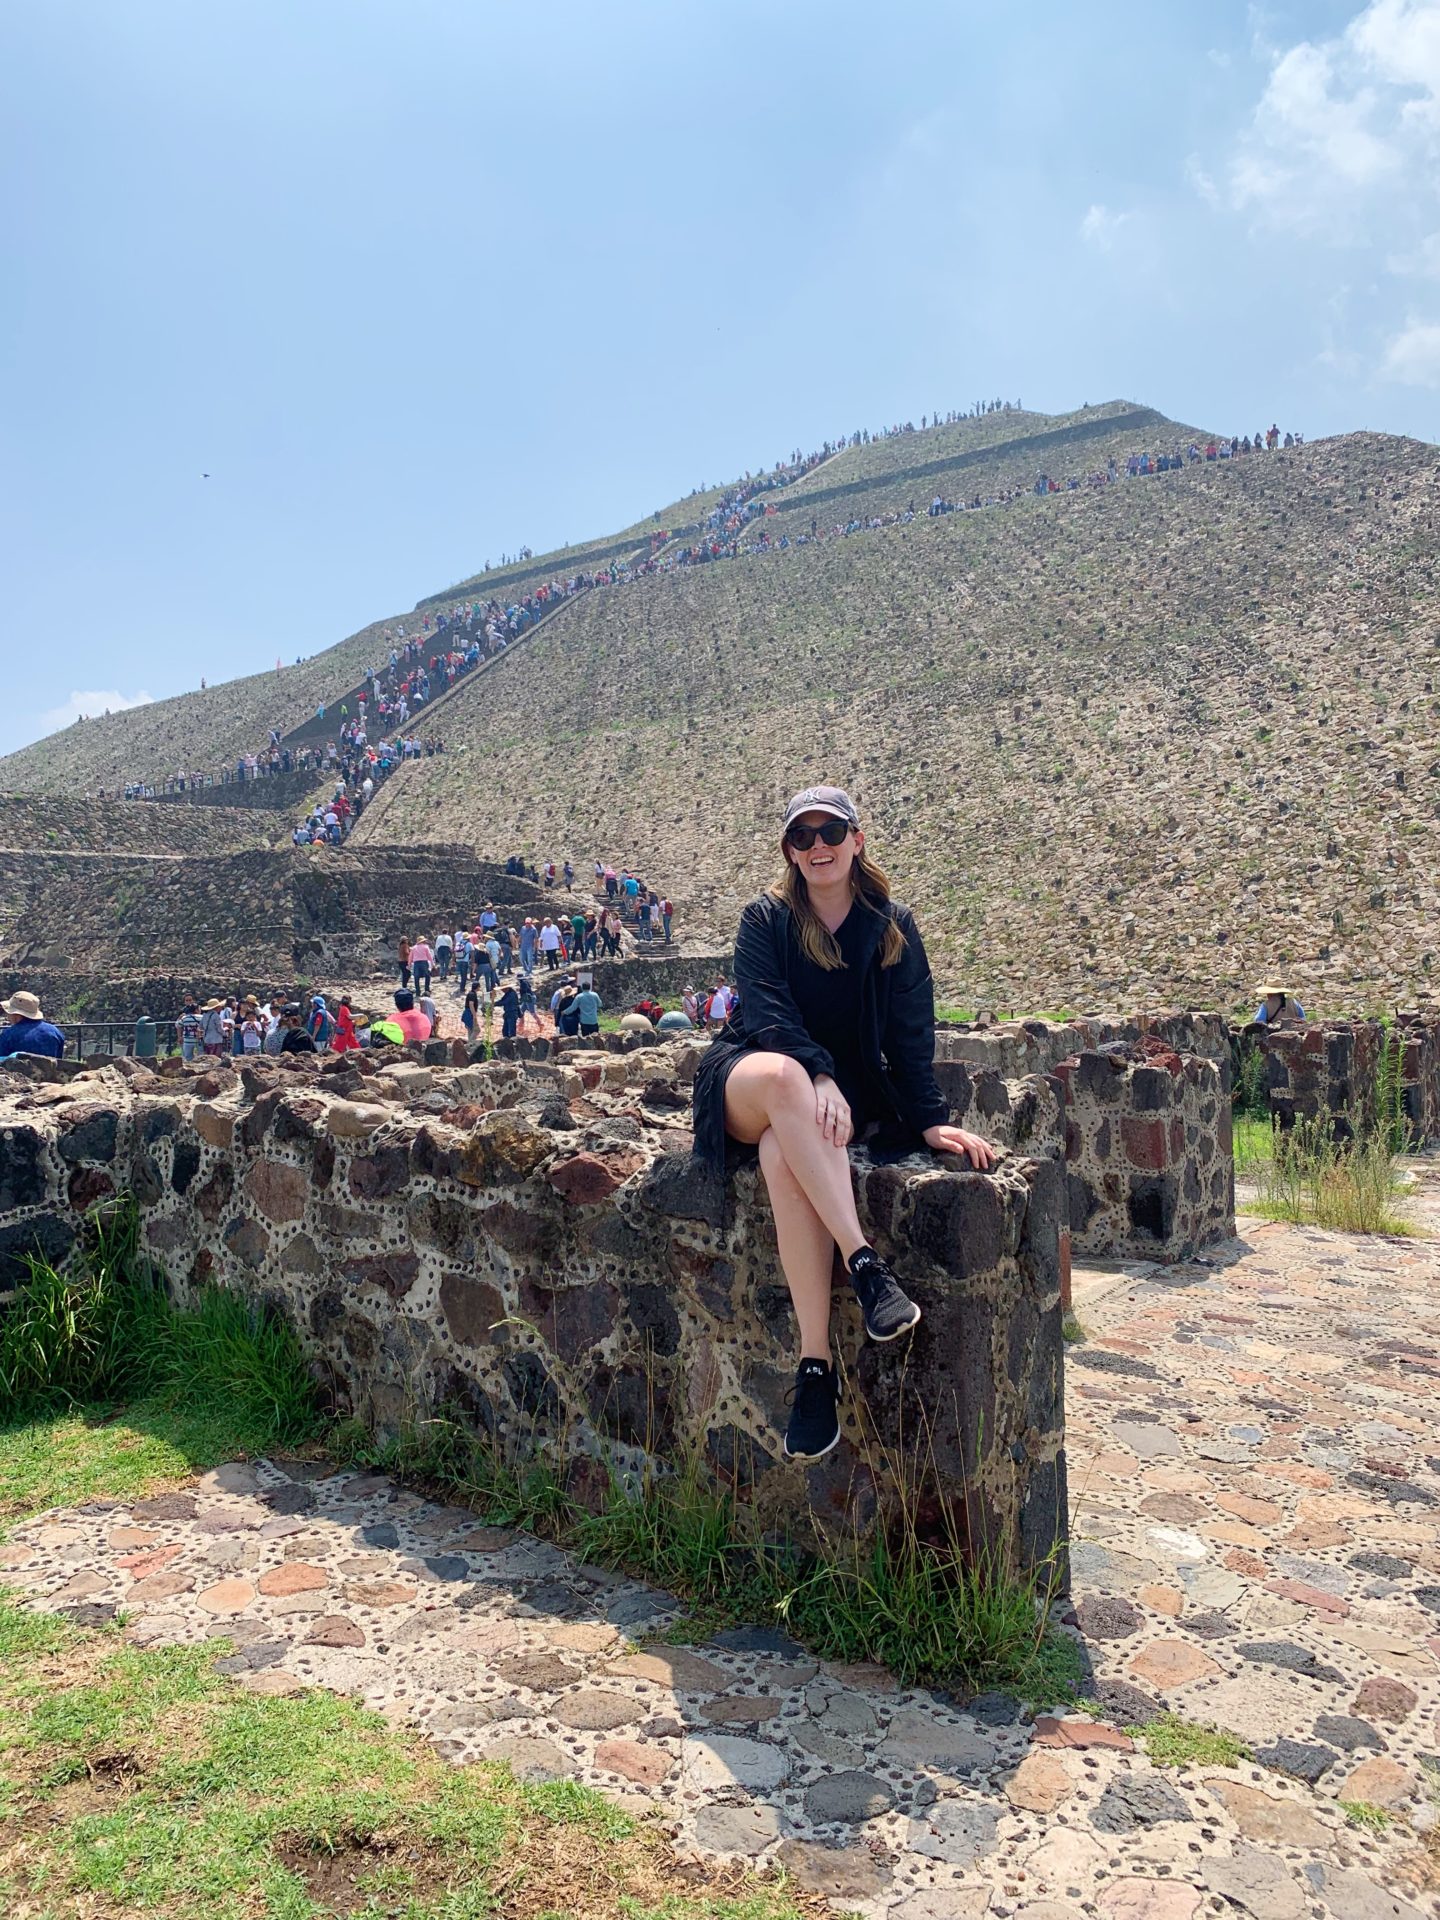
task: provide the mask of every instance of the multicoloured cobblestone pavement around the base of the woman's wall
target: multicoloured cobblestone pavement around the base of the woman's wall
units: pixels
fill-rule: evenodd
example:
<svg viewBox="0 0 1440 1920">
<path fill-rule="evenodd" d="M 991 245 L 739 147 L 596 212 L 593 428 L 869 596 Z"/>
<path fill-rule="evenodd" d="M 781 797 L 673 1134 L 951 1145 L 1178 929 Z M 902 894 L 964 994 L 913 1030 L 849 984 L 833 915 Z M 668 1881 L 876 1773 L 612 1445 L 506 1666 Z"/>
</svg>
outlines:
<svg viewBox="0 0 1440 1920">
<path fill-rule="evenodd" d="M 1440 1225 L 1440 1169 L 1423 1171 Z M 1073 1620 L 1094 1716 L 1021 1718 L 678 1603 L 378 1475 L 228 1465 L 17 1528 L 0 1578 L 242 1686 L 326 1686 L 455 1761 L 570 1774 L 682 1851 L 781 1860 L 891 1920 L 1411 1920 L 1440 1764 L 1440 1238 L 1242 1223 L 1179 1269 L 1077 1273 Z M 1242 1734 L 1162 1768 L 1167 1707 Z M 1380 1830 L 1340 1803 L 1390 1812 Z"/>
</svg>

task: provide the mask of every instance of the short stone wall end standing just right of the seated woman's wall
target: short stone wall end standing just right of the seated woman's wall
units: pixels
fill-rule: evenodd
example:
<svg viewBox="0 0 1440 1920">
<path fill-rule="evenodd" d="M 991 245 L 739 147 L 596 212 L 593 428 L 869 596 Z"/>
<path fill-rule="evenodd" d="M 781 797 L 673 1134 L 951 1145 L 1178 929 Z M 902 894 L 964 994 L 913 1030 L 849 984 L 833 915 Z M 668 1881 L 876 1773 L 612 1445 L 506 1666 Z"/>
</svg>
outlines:
<svg viewBox="0 0 1440 1920">
<path fill-rule="evenodd" d="M 1235 1233 L 1231 1100 L 1213 1060 L 1150 1037 L 1062 1060 L 1069 1242 L 1192 1260 Z"/>
</svg>

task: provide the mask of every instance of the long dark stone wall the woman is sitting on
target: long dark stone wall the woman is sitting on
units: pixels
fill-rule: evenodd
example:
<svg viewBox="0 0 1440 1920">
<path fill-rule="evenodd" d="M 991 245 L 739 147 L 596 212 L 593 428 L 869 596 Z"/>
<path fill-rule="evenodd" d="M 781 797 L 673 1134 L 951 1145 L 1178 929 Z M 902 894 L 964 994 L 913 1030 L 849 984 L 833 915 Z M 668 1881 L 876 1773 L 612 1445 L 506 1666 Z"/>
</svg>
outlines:
<svg viewBox="0 0 1440 1920">
<path fill-rule="evenodd" d="M 979 1175 L 854 1156 L 868 1233 L 925 1317 L 902 1352 L 868 1346 L 837 1288 L 847 1444 L 801 1473 L 780 1459 L 795 1336 L 758 1169 L 722 1187 L 689 1156 L 703 1044 L 578 1068 L 10 1068 L 0 1284 L 125 1190 L 179 1292 L 215 1281 L 275 1302 L 380 1427 L 457 1404 L 568 1461 L 582 1498 L 605 1459 L 693 1448 L 799 1534 L 864 1532 L 893 1475 L 922 1473 L 975 1544 L 1039 1561 L 1066 1515 L 1060 1160 L 1016 1148 Z M 1039 1133 L 1054 1144 L 1054 1119 Z"/>
</svg>

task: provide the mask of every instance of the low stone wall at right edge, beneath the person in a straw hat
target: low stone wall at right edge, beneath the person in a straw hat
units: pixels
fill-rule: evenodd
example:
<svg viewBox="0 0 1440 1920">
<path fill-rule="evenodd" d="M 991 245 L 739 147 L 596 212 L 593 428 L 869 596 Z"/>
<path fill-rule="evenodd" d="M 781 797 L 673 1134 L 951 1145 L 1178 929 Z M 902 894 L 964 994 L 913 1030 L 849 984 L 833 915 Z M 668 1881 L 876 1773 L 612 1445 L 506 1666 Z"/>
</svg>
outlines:
<svg viewBox="0 0 1440 1920">
<path fill-rule="evenodd" d="M 1402 1012 L 1394 1031 L 1379 1020 L 1317 1020 L 1300 1027 L 1236 1029 L 1240 1048 L 1260 1048 L 1269 1112 L 1281 1127 L 1329 1114 L 1350 1139 L 1382 1108 L 1409 1127 L 1411 1144 L 1440 1139 L 1440 1014 Z M 1398 1071 L 1398 1087 L 1392 1075 Z"/>
</svg>

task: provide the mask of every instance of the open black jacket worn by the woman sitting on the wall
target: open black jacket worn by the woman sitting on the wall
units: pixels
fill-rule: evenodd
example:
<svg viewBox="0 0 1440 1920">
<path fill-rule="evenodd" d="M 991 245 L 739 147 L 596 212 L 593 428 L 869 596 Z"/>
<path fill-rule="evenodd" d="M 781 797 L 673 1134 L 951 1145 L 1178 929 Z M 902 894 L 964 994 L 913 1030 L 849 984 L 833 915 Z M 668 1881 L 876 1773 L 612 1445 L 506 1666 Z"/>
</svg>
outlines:
<svg viewBox="0 0 1440 1920">
<path fill-rule="evenodd" d="M 935 987 L 925 945 L 908 906 L 891 900 L 885 914 L 856 902 L 866 916 L 864 981 L 860 983 L 860 1052 L 877 1104 L 879 1131 L 870 1140 L 874 1160 L 899 1160 L 924 1148 L 925 1127 L 945 1125 L 950 1108 L 935 1085 Z M 885 920 L 904 933 L 904 954 L 895 966 L 879 964 Z M 735 935 L 735 985 L 739 1006 L 712 1043 L 716 1069 L 724 1056 L 743 1046 L 789 1054 L 814 1079 L 833 1073 L 835 1062 L 806 1033 L 795 1004 L 793 979 L 808 966 L 789 908 L 764 893 L 751 900 Z M 697 1077 L 699 1079 L 699 1077 Z M 724 1164 L 724 1071 L 697 1083 L 695 1152 L 710 1165 Z"/>
</svg>

